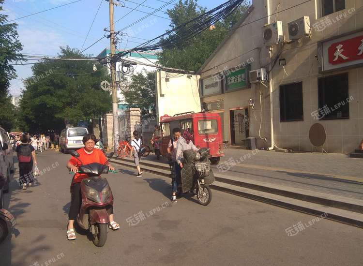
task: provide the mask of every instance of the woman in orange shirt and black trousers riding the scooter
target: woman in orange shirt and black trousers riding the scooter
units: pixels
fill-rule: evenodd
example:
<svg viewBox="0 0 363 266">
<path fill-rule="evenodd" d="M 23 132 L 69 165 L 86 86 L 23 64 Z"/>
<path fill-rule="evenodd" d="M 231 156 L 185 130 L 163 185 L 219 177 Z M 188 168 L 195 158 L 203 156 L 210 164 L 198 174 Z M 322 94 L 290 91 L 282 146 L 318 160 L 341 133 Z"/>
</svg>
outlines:
<svg viewBox="0 0 363 266">
<path fill-rule="evenodd" d="M 84 148 L 80 148 L 77 150 L 79 153 L 79 160 L 82 161 L 83 164 L 89 164 L 89 163 L 101 163 L 108 165 L 110 170 L 115 171 L 115 168 L 110 165 L 110 163 L 107 162 L 105 154 L 102 152 L 102 150 L 94 148 L 94 145 L 96 144 L 96 137 L 93 134 L 87 134 L 83 137 L 82 140 L 84 144 Z M 79 174 L 78 167 L 81 166 L 81 163 L 75 158 L 72 157 L 68 163 L 67 168 L 76 173 L 76 175 L 73 177 L 72 185 L 71 185 L 71 207 L 69 208 L 69 223 L 68 223 L 68 229 L 67 229 L 67 237 L 69 240 L 76 239 L 76 233 L 74 230 L 74 222 L 77 218 L 77 215 L 79 213 L 79 209 L 82 204 L 82 198 L 81 198 L 81 187 L 80 182 L 82 179 L 87 178 L 88 176 L 85 174 Z M 110 219 L 110 226 L 113 230 L 117 230 L 120 228 L 120 224 L 115 222 L 113 220 L 113 209 L 111 208 L 111 214 L 109 216 Z"/>
</svg>

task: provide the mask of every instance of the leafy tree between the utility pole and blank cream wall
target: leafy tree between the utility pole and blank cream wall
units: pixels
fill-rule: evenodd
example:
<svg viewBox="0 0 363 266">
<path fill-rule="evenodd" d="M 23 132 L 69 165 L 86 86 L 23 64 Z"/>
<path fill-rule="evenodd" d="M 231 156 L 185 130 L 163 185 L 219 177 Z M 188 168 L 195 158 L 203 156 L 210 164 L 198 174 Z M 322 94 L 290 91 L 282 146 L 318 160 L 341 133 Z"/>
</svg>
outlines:
<svg viewBox="0 0 363 266">
<path fill-rule="evenodd" d="M 130 89 L 123 93 L 125 102 L 141 109 L 142 117 L 156 115 L 155 74 L 144 70 L 132 75 Z"/>
</svg>

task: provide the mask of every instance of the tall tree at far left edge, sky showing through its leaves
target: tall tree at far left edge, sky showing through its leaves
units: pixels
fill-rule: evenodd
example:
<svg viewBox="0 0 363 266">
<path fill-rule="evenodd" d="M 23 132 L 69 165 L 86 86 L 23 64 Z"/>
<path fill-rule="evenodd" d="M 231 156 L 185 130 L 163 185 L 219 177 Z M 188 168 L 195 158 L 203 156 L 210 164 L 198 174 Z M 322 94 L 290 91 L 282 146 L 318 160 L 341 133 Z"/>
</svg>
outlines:
<svg viewBox="0 0 363 266">
<path fill-rule="evenodd" d="M 15 126 L 15 110 L 11 103 L 9 94 L 10 80 L 16 77 L 12 62 L 23 60 L 20 51 L 23 49 L 21 43 L 17 40 L 16 23 L 7 23 L 7 15 L 3 12 L 0 0 L 0 124 L 6 130 L 10 131 Z"/>
</svg>

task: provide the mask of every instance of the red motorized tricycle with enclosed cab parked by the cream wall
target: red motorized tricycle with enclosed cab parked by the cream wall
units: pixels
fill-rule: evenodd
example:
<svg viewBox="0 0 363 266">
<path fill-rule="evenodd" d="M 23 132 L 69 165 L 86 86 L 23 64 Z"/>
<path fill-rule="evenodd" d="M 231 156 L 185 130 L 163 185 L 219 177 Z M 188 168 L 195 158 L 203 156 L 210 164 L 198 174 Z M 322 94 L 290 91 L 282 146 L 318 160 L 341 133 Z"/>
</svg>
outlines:
<svg viewBox="0 0 363 266">
<path fill-rule="evenodd" d="M 218 164 L 223 152 L 223 136 L 221 117 L 217 113 L 187 112 L 176 114 L 173 117 L 164 115 L 160 121 L 160 130 L 163 132 L 161 154 L 167 157 L 167 144 L 170 133 L 174 128 L 181 131 L 193 129 L 193 143 L 197 148 L 209 148 L 209 160 L 212 164 Z"/>
</svg>

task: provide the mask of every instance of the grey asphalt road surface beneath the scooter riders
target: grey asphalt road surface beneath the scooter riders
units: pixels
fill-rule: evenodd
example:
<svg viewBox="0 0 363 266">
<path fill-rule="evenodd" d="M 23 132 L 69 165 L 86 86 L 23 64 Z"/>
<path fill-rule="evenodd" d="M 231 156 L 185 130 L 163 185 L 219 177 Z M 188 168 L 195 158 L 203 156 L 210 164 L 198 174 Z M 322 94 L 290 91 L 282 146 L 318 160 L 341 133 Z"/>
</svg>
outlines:
<svg viewBox="0 0 363 266">
<path fill-rule="evenodd" d="M 119 173 L 107 179 L 121 229 L 110 231 L 102 248 L 81 233 L 68 241 L 69 158 L 38 154 L 40 169 L 49 170 L 26 191 L 16 184 L 15 172 L 5 206 L 17 225 L 0 244 L 1 266 L 363 264 L 362 229 L 321 220 L 288 236 L 287 228 L 309 225 L 315 217 L 218 191 L 207 207 L 191 196 L 172 204 L 170 179 L 149 173 L 137 178 L 134 169 L 119 165 Z"/>
</svg>

